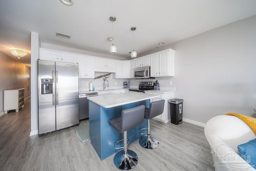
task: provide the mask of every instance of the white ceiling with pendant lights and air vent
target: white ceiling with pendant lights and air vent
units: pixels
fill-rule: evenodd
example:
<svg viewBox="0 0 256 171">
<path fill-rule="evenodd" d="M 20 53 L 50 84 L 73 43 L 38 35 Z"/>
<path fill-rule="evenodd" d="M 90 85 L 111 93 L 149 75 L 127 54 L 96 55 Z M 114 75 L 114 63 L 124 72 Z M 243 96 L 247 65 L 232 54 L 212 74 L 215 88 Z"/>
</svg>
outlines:
<svg viewBox="0 0 256 171">
<path fill-rule="evenodd" d="M 68 0 L 66 0 L 68 1 Z M 0 0 L 0 51 L 27 50 L 19 61 L 30 65 L 30 32 L 43 43 L 100 54 L 127 57 L 140 54 L 256 15 L 256 0 Z M 110 16 L 115 16 L 114 44 Z M 56 36 L 68 34 L 70 39 Z M 164 42 L 164 45 L 158 43 Z"/>
</svg>

